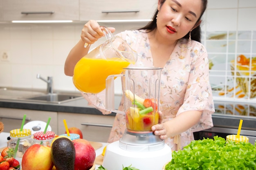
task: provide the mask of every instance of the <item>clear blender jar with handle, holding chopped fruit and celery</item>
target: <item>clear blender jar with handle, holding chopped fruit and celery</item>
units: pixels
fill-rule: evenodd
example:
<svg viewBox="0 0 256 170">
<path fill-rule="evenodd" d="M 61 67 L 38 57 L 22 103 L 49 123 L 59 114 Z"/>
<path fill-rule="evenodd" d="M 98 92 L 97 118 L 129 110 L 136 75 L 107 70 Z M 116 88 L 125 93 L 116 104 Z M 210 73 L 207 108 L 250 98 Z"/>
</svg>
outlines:
<svg viewBox="0 0 256 170">
<path fill-rule="evenodd" d="M 159 67 L 130 67 L 124 68 L 124 74 L 106 79 L 106 109 L 125 114 L 127 130 L 150 131 L 151 126 L 158 124 L 161 71 Z M 115 110 L 117 76 L 124 76 L 124 111 Z"/>
</svg>

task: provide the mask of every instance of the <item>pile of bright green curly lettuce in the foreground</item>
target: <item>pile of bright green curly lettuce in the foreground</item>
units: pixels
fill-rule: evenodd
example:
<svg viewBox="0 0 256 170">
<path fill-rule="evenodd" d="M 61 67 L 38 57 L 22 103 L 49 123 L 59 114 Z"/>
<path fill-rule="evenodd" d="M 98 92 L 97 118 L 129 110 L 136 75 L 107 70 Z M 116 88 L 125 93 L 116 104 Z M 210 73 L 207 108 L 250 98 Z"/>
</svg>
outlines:
<svg viewBox="0 0 256 170">
<path fill-rule="evenodd" d="M 165 170 L 256 170 L 256 147 L 218 136 L 195 140 L 173 152 Z"/>
</svg>

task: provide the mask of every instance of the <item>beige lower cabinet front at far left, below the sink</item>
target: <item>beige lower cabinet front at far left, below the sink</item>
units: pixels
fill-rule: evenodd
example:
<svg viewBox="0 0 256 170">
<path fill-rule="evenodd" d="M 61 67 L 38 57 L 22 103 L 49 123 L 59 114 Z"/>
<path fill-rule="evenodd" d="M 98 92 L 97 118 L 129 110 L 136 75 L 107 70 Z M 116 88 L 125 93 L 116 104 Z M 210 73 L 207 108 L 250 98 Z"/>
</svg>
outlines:
<svg viewBox="0 0 256 170">
<path fill-rule="evenodd" d="M 48 118 L 51 117 L 49 125 L 51 126 L 52 131 L 57 133 L 57 112 L 0 108 L 0 121 L 2 121 L 4 124 L 4 132 L 10 132 L 13 129 L 19 129 L 22 124 L 24 115 L 26 115 L 25 124 L 27 124 L 29 121 L 35 120 L 47 122 Z"/>
</svg>

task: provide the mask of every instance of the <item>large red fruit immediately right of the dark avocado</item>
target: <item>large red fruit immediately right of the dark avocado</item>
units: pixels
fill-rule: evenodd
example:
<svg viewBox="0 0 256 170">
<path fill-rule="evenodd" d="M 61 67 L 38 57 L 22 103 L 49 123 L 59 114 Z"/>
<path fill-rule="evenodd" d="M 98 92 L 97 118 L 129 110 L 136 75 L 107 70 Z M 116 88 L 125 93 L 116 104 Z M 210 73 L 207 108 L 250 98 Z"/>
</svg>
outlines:
<svg viewBox="0 0 256 170">
<path fill-rule="evenodd" d="M 74 139 L 73 143 L 76 150 L 75 170 L 92 168 L 96 153 L 90 142 L 85 139 Z"/>
</svg>

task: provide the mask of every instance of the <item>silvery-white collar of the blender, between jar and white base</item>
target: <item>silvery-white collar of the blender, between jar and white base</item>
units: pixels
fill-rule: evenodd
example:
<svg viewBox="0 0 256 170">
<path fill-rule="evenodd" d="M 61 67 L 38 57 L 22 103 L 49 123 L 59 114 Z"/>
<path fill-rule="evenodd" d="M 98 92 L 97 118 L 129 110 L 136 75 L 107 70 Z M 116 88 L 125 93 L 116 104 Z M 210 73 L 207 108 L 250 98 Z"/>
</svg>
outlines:
<svg viewBox="0 0 256 170">
<path fill-rule="evenodd" d="M 119 140 L 119 147 L 133 152 L 150 152 L 164 148 L 164 140 L 153 131 L 129 131 Z"/>
</svg>

